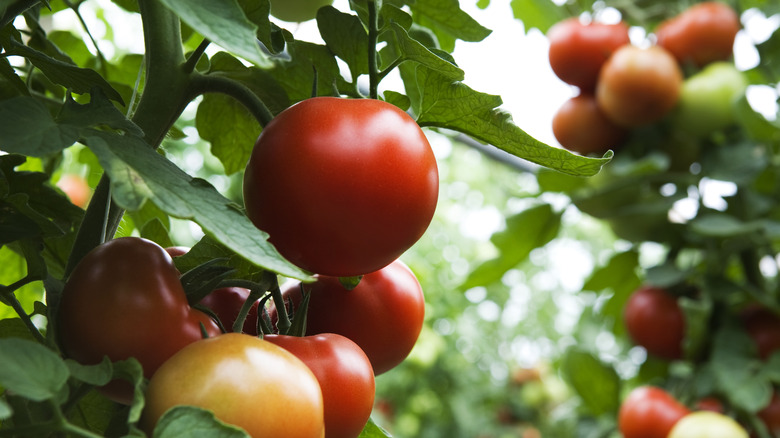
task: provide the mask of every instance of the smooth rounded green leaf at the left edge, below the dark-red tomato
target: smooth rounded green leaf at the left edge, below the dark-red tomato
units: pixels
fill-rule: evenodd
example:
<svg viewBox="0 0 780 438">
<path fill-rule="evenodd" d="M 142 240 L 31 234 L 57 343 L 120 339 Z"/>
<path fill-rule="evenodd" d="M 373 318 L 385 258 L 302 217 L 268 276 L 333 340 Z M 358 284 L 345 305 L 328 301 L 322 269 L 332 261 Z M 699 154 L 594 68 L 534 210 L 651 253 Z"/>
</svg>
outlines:
<svg viewBox="0 0 780 438">
<path fill-rule="evenodd" d="M 69 377 L 55 352 L 24 339 L 0 339 L 0 363 L 0 385 L 34 401 L 56 397 Z"/>
</svg>

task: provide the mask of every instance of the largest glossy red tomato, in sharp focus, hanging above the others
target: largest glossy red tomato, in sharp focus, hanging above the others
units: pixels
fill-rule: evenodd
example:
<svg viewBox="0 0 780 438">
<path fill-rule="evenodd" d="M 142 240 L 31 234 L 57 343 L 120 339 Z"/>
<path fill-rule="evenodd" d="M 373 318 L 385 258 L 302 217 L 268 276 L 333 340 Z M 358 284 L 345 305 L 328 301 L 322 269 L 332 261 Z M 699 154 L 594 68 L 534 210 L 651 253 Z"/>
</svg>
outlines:
<svg viewBox="0 0 780 438">
<path fill-rule="evenodd" d="M 420 127 L 376 99 L 316 97 L 282 111 L 244 176 L 247 215 L 279 252 L 335 277 L 381 269 L 417 242 L 438 190 Z"/>
</svg>

